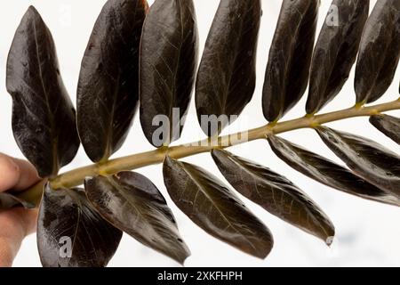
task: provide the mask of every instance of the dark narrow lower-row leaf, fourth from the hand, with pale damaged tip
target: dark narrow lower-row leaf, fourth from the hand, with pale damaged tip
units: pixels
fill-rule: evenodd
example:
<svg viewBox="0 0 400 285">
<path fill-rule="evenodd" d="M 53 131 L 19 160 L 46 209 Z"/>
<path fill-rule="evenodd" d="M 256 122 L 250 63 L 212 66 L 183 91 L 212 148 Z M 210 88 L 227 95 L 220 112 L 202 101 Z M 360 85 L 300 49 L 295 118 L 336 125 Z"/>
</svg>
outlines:
<svg viewBox="0 0 400 285">
<path fill-rule="evenodd" d="M 328 245 L 332 243 L 335 231 L 328 216 L 284 176 L 228 151 L 214 150 L 212 159 L 228 183 L 244 197 Z"/>
</svg>

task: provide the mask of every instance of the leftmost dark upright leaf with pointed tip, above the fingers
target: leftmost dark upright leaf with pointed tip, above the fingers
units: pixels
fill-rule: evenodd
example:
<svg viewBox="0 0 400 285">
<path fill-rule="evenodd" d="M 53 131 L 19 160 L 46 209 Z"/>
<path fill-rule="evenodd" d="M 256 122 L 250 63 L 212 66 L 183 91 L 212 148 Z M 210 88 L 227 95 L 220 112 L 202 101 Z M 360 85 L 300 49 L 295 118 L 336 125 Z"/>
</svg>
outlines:
<svg viewBox="0 0 400 285">
<path fill-rule="evenodd" d="M 80 142 L 52 35 L 32 6 L 12 41 L 6 81 L 20 150 L 41 177 L 56 175 L 74 159 Z"/>
</svg>

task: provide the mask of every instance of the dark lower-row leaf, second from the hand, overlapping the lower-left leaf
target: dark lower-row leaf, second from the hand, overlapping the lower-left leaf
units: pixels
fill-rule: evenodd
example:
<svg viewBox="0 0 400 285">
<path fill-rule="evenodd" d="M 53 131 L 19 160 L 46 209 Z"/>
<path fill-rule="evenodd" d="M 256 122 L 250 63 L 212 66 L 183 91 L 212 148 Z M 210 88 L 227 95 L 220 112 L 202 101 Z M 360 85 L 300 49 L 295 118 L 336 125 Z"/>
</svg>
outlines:
<svg viewBox="0 0 400 285">
<path fill-rule="evenodd" d="M 180 264 L 190 255 L 163 195 L 145 176 L 121 172 L 87 178 L 85 189 L 94 208 L 118 229 Z"/>
</svg>

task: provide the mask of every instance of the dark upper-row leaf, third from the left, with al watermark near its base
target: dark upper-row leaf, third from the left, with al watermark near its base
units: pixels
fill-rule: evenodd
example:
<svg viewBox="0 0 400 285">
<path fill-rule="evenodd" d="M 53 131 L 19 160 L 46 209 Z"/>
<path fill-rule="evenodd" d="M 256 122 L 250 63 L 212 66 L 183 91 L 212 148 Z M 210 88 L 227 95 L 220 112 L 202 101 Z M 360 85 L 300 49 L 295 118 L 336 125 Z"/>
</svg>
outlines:
<svg viewBox="0 0 400 285">
<path fill-rule="evenodd" d="M 156 147 L 180 138 L 197 67 L 192 0 L 156 0 L 140 45 L 140 122 Z"/>
</svg>

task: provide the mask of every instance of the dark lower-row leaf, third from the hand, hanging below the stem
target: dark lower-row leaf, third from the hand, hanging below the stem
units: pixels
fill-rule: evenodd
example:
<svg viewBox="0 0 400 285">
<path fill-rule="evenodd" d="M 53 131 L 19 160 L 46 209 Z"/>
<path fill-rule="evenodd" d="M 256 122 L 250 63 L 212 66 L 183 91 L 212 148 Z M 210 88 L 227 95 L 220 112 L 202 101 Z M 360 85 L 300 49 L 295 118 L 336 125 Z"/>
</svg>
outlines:
<svg viewBox="0 0 400 285">
<path fill-rule="evenodd" d="M 218 178 L 167 157 L 164 183 L 178 208 L 205 232 L 252 256 L 268 256 L 273 246 L 268 228 Z"/>
</svg>

